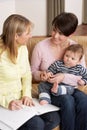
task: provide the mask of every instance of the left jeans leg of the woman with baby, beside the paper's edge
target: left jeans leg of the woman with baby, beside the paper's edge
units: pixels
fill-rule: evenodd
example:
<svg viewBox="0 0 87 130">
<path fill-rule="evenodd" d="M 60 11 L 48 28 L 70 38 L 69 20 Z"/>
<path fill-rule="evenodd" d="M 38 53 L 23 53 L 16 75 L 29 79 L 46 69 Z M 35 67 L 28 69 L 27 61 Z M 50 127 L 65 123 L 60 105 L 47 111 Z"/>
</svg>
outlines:
<svg viewBox="0 0 87 130">
<path fill-rule="evenodd" d="M 74 130 L 75 108 L 71 95 L 52 96 L 52 104 L 60 107 L 60 127 L 62 130 Z M 71 120 L 72 119 L 72 120 Z"/>
</svg>

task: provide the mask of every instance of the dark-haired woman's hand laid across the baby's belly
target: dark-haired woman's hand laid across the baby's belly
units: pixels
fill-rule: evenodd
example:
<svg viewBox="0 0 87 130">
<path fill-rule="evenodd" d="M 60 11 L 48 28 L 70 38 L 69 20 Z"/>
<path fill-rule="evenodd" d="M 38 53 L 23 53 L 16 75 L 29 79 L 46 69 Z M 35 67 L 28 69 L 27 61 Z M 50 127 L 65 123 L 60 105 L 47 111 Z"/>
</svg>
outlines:
<svg viewBox="0 0 87 130">
<path fill-rule="evenodd" d="M 51 76 L 51 78 L 49 78 L 47 81 L 50 82 L 50 83 L 60 83 L 62 82 L 64 79 L 64 74 L 63 73 L 58 73 L 58 74 L 55 74 L 53 76 Z"/>
</svg>

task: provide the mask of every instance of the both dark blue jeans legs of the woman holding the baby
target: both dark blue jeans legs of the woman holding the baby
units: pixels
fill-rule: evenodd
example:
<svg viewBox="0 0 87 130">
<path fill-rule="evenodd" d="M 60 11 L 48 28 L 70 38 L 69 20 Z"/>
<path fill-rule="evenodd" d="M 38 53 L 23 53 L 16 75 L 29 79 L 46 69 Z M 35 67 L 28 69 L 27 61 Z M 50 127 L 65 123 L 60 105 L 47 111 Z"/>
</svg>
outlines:
<svg viewBox="0 0 87 130">
<path fill-rule="evenodd" d="M 58 97 L 52 95 L 52 104 L 60 107 L 62 130 L 80 130 L 80 128 L 81 130 L 87 130 L 86 94 L 75 90 L 73 95 L 61 95 Z"/>
</svg>

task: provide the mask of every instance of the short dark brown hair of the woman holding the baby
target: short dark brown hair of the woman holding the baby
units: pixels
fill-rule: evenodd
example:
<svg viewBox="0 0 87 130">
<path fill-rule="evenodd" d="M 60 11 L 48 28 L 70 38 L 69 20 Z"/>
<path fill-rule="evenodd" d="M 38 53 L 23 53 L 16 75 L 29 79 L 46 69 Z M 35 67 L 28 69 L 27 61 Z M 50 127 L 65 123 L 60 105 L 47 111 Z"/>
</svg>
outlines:
<svg viewBox="0 0 87 130">
<path fill-rule="evenodd" d="M 78 18 L 73 13 L 63 12 L 52 21 L 53 28 L 60 30 L 65 36 L 71 35 L 77 28 Z"/>
</svg>

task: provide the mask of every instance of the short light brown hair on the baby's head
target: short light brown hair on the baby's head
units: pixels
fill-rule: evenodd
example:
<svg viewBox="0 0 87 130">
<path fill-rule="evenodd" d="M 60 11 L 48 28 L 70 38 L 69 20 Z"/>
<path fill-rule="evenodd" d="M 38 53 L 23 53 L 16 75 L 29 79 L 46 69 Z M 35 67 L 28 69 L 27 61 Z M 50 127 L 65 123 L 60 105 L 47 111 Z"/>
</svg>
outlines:
<svg viewBox="0 0 87 130">
<path fill-rule="evenodd" d="M 80 44 L 72 44 L 66 48 L 66 51 L 77 53 L 79 55 L 79 60 L 81 60 L 84 55 L 84 49 Z"/>
</svg>

